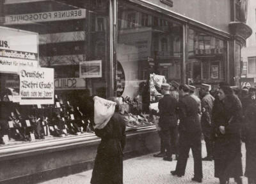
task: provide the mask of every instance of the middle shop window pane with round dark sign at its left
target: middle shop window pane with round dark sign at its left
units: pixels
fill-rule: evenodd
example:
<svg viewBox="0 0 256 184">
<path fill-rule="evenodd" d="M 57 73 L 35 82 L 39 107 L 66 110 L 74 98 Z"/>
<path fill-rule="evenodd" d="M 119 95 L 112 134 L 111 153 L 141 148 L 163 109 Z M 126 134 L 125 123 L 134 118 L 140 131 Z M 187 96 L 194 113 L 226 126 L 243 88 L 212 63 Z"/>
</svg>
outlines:
<svg viewBox="0 0 256 184">
<path fill-rule="evenodd" d="M 182 27 L 130 7 L 118 5 L 116 91 L 124 98 L 138 98 L 147 112 L 150 74 L 180 83 Z"/>
</svg>

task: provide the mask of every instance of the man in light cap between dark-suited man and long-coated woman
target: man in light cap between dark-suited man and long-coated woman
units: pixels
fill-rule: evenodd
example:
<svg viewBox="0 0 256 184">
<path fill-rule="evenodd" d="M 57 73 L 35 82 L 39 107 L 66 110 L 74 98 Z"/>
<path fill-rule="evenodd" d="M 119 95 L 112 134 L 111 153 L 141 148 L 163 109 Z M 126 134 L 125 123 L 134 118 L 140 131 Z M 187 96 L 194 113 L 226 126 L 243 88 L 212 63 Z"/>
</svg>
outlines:
<svg viewBox="0 0 256 184">
<path fill-rule="evenodd" d="M 211 114 L 212 107 L 214 103 L 214 97 L 209 93 L 211 90 L 211 85 L 202 83 L 201 85 L 201 95 L 202 95 L 202 117 L 201 117 L 201 126 L 202 132 L 204 134 L 204 141 L 207 151 L 207 156 L 202 159 L 205 161 L 212 161 L 212 126 L 211 126 Z"/>
</svg>

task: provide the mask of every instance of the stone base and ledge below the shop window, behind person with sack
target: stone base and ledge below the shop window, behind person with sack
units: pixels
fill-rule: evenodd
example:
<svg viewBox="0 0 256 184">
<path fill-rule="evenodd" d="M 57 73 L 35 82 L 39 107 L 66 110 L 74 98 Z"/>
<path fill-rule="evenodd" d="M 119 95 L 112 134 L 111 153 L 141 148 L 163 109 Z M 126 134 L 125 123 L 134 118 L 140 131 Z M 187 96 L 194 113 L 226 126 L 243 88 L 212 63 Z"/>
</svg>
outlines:
<svg viewBox="0 0 256 184">
<path fill-rule="evenodd" d="M 100 138 L 84 133 L 0 146 L 0 183 L 38 183 L 93 168 Z M 127 128 L 124 159 L 157 152 L 156 125 Z"/>
</svg>

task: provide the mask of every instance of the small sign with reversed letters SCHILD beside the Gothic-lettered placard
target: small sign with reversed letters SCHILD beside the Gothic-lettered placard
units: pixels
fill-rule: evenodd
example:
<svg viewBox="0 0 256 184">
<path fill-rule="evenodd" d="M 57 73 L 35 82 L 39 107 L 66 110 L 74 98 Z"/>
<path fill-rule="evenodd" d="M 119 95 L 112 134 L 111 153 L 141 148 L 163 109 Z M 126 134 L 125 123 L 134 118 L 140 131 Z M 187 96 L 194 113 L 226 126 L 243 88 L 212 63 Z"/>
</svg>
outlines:
<svg viewBox="0 0 256 184">
<path fill-rule="evenodd" d="M 86 82 L 83 78 L 56 78 L 54 79 L 55 90 L 85 89 Z"/>
</svg>

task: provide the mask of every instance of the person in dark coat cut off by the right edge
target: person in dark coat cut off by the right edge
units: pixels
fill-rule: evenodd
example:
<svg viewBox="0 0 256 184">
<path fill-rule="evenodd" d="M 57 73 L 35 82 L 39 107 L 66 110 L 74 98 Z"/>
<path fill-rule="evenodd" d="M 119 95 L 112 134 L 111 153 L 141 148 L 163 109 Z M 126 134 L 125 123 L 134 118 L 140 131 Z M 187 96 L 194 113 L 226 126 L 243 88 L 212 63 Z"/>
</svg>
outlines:
<svg viewBox="0 0 256 184">
<path fill-rule="evenodd" d="M 246 167 L 244 176 L 248 184 L 256 183 L 256 103 L 248 104 L 244 112 L 243 141 L 246 147 Z"/>
</svg>

